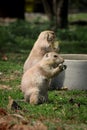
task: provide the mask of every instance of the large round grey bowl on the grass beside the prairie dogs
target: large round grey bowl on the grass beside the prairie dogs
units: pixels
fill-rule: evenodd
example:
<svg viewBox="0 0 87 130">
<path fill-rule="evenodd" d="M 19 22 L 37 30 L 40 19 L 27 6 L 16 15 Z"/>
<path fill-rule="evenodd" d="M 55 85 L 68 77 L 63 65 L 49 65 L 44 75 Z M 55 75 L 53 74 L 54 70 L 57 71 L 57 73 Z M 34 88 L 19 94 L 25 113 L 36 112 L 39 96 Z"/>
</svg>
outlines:
<svg viewBox="0 0 87 130">
<path fill-rule="evenodd" d="M 67 69 L 52 80 L 51 88 L 87 90 L 87 55 L 61 54 Z"/>
</svg>

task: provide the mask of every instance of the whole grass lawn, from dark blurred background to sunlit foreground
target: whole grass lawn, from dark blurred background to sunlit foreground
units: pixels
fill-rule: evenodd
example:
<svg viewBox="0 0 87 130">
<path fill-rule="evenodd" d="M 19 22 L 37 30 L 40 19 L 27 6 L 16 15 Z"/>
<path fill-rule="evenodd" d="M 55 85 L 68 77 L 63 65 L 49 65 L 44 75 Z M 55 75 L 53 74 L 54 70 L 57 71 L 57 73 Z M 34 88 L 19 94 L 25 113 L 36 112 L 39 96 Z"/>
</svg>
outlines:
<svg viewBox="0 0 87 130">
<path fill-rule="evenodd" d="M 0 85 L 12 88 L 0 90 L 0 107 L 15 113 L 15 110 L 7 108 L 11 96 L 21 106 L 22 115 L 31 123 L 40 120 L 49 130 L 86 130 L 87 91 L 49 91 L 49 101 L 36 106 L 19 101 L 23 99 L 20 83 L 24 61 L 38 34 L 45 29 L 49 29 L 47 23 L 36 26 L 24 21 L 0 26 L 0 48 L 8 58 L 7 61 L 0 59 Z M 61 53 L 87 54 L 86 34 L 87 26 L 58 30 L 56 35 L 61 41 Z"/>
</svg>

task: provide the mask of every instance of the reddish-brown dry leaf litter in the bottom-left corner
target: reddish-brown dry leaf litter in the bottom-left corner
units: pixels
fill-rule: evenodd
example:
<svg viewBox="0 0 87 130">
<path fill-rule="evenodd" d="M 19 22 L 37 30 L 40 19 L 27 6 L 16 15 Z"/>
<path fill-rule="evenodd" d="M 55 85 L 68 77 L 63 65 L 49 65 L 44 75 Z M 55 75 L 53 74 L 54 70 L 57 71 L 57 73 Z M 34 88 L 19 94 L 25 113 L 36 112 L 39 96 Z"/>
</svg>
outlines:
<svg viewBox="0 0 87 130">
<path fill-rule="evenodd" d="M 0 118 L 0 130 L 47 130 L 47 126 L 41 121 L 35 121 L 31 126 L 29 120 L 19 114 L 7 114 L 2 108 L 0 111 L 3 115 Z M 23 123 L 24 121 L 26 122 L 25 124 Z"/>
</svg>

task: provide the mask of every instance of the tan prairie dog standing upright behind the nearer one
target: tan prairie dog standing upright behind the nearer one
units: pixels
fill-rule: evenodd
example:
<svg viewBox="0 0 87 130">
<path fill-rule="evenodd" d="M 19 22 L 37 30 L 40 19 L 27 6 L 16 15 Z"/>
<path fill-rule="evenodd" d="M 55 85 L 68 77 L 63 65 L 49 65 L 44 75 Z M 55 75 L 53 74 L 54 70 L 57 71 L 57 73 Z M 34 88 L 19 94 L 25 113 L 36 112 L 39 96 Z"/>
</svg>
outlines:
<svg viewBox="0 0 87 130">
<path fill-rule="evenodd" d="M 47 52 L 57 51 L 58 47 L 55 46 L 55 43 L 57 42 L 55 42 L 55 33 L 53 31 L 41 32 L 24 63 L 24 72 L 40 61 Z"/>
</svg>

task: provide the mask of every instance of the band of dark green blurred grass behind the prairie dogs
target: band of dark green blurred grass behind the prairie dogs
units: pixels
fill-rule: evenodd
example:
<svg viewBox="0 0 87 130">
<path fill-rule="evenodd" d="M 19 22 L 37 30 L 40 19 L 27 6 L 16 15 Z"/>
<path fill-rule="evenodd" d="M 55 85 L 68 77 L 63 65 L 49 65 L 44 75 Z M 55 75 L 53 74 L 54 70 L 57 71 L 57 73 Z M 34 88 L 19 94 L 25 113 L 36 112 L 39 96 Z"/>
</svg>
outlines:
<svg viewBox="0 0 87 130">
<path fill-rule="evenodd" d="M 47 29 L 51 29 L 49 23 L 26 21 L 0 26 L 0 50 L 29 53 L 39 33 Z M 87 26 L 70 26 L 68 29 L 58 29 L 55 33 L 57 40 L 61 41 L 61 53 L 87 53 Z"/>
</svg>

